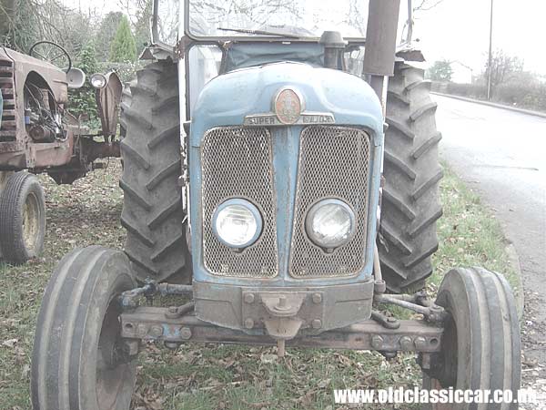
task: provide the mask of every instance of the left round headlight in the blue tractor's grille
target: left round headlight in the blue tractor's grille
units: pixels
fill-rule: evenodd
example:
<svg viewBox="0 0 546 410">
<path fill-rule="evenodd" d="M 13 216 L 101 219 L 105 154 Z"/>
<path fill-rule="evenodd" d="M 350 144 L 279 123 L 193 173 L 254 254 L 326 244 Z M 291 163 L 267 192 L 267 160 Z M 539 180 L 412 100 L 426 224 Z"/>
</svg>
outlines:
<svg viewBox="0 0 546 410">
<path fill-rule="evenodd" d="M 230 248 L 246 248 L 258 240 L 262 219 L 248 200 L 227 200 L 214 212 L 212 230 Z"/>
</svg>

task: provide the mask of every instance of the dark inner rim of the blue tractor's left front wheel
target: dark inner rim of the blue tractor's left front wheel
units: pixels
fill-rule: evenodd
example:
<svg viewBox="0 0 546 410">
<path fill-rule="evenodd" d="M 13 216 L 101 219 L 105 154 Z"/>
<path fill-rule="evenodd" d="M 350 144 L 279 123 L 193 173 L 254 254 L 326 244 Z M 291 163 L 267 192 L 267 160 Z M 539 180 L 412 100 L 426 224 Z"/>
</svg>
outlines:
<svg viewBox="0 0 546 410">
<path fill-rule="evenodd" d="M 112 298 L 106 309 L 96 356 L 96 400 L 100 410 L 116 409 L 117 399 L 132 380 L 132 364 L 121 352 L 120 313 L 119 303 Z"/>
</svg>

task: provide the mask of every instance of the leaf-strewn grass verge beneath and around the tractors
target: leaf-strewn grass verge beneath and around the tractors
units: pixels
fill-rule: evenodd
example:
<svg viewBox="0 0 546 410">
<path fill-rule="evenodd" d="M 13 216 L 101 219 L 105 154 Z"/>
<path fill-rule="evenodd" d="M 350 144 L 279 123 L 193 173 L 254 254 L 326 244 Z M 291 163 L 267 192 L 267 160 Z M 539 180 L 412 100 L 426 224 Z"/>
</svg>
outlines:
<svg viewBox="0 0 546 410">
<path fill-rule="evenodd" d="M 112 161 L 108 169 L 89 174 L 73 187 L 58 187 L 41 177 L 48 223 L 44 255 L 23 266 L 0 265 L 0 409 L 30 408 L 35 317 L 56 262 L 75 246 L 123 246 L 119 173 L 119 162 Z M 431 292 L 442 272 L 455 266 L 484 266 L 517 283 L 499 223 L 450 169 L 441 183 L 441 200 L 444 217 Z M 335 407 L 333 388 L 420 384 L 420 370 L 410 354 L 387 362 L 369 352 L 290 349 L 286 358 L 278 359 L 272 348 L 187 344 L 170 353 L 149 344 L 139 361 L 133 400 L 139 410 L 327 410 Z"/>
</svg>

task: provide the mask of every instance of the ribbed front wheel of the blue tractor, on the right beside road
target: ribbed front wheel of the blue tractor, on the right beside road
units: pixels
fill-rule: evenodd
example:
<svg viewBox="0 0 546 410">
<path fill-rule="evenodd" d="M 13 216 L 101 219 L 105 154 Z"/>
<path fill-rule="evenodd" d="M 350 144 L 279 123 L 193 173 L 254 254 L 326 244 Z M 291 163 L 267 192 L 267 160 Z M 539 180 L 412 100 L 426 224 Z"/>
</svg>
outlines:
<svg viewBox="0 0 546 410">
<path fill-rule="evenodd" d="M 516 399 L 521 379 L 520 325 L 508 282 L 499 273 L 482 268 L 453 269 L 441 283 L 436 303 L 449 316 L 442 350 L 424 372 L 423 386 L 510 390 Z M 436 404 L 429 408 L 467 410 L 473 406 Z M 518 405 L 502 408 L 517 409 Z"/>
</svg>

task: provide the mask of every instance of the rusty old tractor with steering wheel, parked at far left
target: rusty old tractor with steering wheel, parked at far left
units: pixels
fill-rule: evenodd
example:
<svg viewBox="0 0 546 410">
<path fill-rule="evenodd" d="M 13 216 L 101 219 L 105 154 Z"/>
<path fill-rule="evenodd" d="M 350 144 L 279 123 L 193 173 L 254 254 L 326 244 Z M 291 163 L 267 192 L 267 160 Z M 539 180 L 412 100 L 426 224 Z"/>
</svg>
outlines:
<svg viewBox="0 0 546 410">
<path fill-rule="evenodd" d="M 119 157 L 116 73 L 91 77 L 102 131 L 90 135 L 66 109 L 68 90 L 83 87 L 86 75 L 54 43 L 36 43 L 29 54 L 0 47 L 0 258 L 11 263 L 44 246 L 45 198 L 34 174 L 72 184 L 98 166 L 96 159 Z"/>
</svg>

